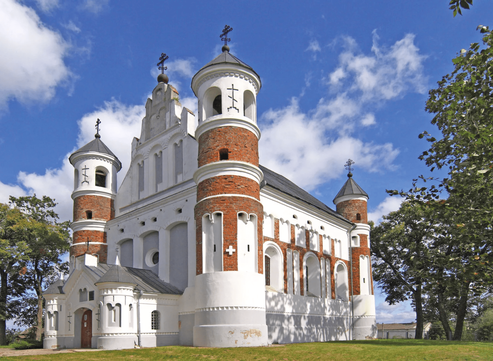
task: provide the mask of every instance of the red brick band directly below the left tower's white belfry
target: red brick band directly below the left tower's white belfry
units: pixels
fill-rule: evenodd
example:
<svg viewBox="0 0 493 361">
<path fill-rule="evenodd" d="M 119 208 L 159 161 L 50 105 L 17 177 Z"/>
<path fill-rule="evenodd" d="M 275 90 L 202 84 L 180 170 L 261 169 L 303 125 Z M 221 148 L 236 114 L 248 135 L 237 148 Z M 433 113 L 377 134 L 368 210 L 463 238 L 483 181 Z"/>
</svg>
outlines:
<svg viewBox="0 0 493 361">
<path fill-rule="evenodd" d="M 92 212 L 92 219 L 110 220 L 115 217 L 114 200 L 95 195 L 82 195 L 73 200 L 73 221 L 87 219 L 86 211 Z"/>
</svg>

